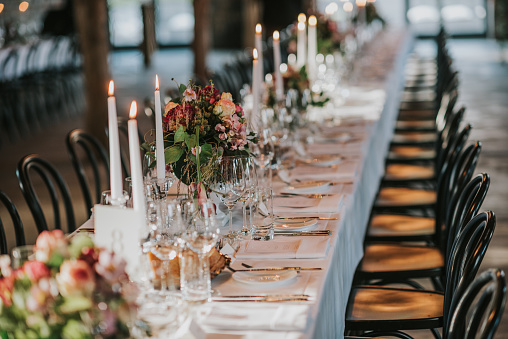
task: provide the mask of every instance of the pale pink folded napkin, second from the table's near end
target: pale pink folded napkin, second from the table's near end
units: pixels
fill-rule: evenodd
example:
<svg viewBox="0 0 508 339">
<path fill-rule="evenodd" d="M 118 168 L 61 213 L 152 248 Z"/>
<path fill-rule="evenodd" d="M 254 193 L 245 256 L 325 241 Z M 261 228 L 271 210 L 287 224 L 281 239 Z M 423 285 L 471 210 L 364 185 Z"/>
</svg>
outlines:
<svg viewBox="0 0 508 339">
<path fill-rule="evenodd" d="M 317 259 L 330 247 L 328 237 L 306 237 L 273 241 L 247 240 L 240 244 L 236 259 Z"/>
</svg>

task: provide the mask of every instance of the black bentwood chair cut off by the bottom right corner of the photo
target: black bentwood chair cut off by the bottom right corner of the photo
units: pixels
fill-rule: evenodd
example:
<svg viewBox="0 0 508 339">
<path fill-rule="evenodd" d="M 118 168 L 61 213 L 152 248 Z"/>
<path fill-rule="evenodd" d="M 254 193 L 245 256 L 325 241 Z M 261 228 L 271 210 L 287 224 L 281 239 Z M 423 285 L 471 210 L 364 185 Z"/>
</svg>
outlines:
<svg viewBox="0 0 508 339">
<path fill-rule="evenodd" d="M 464 293 L 453 296 L 450 317 L 443 330 L 443 339 L 492 339 L 499 326 L 506 305 L 506 278 L 500 269 L 480 274 L 467 286 Z M 364 337 L 376 336 L 413 339 L 403 332 L 371 332 Z"/>
</svg>

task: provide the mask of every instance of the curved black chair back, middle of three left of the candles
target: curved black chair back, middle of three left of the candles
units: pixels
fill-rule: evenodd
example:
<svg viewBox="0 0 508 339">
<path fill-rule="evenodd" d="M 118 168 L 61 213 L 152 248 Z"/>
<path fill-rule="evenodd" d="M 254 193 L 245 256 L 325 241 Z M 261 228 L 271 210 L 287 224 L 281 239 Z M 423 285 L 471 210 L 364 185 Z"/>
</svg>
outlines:
<svg viewBox="0 0 508 339">
<path fill-rule="evenodd" d="M 53 210 L 54 228 L 62 229 L 62 211 L 65 211 L 67 222 L 66 231 L 69 233 L 73 232 L 76 227 L 76 222 L 67 184 L 53 165 L 40 158 L 38 155 L 31 154 L 20 160 L 16 169 L 16 176 L 18 177 L 21 192 L 30 208 L 30 212 L 32 212 L 37 231 L 41 233 L 42 231 L 47 231 L 49 227 L 44 208 L 33 184 L 34 174 L 38 174 L 44 183 L 46 193 L 49 195 L 51 208 Z M 62 202 L 62 204 L 60 204 L 60 202 Z"/>
</svg>

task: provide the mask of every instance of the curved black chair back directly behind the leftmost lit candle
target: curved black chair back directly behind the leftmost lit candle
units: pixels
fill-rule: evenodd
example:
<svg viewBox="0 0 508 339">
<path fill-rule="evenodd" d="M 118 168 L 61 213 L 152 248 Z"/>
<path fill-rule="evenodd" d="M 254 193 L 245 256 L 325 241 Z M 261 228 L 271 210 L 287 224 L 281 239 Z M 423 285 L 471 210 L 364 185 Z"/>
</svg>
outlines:
<svg viewBox="0 0 508 339">
<path fill-rule="evenodd" d="M 109 188 L 108 153 L 99 140 L 80 129 L 71 131 L 65 144 L 83 192 L 87 215 L 90 216 L 93 205 L 100 203 L 102 191 Z M 84 153 L 84 159 L 78 153 Z M 92 180 L 88 180 L 86 168 L 90 168 Z"/>
</svg>

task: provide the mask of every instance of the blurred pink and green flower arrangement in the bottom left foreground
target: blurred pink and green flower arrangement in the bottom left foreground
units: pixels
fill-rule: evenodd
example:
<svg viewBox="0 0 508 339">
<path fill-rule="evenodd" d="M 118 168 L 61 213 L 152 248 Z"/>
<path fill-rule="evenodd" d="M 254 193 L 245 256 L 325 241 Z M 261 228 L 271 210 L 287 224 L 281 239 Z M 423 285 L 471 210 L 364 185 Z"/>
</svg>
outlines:
<svg viewBox="0 0 508 339">
<path fill-rule="evenodd" d="M 85 235 L 42 232 L 34 258 L 0 257 L 0 338 L 128 338 L 137 289 L 125 261 Z"/>
</svg>

